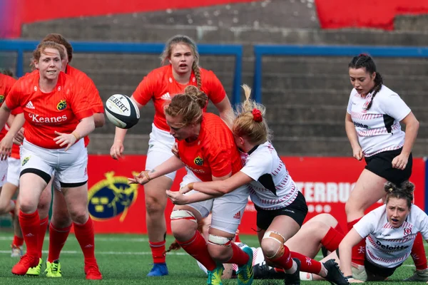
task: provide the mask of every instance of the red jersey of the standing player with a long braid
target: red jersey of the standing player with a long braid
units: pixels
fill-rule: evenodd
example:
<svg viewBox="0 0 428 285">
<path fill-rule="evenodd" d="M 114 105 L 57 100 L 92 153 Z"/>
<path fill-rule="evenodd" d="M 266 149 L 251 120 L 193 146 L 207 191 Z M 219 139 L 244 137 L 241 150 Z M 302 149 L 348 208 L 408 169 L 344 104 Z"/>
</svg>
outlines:
<svg viewBox="0 0 428 285">
<path fill-rule="evenodd" d="M 200 78 L 202 80 L 201 89 L 208 96 L 208 99 L 214 104 L 220 103 L 225 98 L 226 92 L 217 76 L 215 76 L 213 71 L 200 68 Z M 133 98 L 141 105 L 146 105 L 148 101 L 153 99 L 153 104 L 155 105 L 155 118 L 153 123 L 157 128 L 169 131 L 170 128 L 166 124 L 163 106 L 165 103 L 168 103 L 174 95 L 183 93 L 184 88 L 189 85 L 198 86 L 193 71 L 190 75 L 189 83 L 183 85 L 175 81 L 171 65 L 163 66 L 161 68 L 156 68 L 143 78 L 143 81 L 141 81 L 134 91 Z"/>
</svg>

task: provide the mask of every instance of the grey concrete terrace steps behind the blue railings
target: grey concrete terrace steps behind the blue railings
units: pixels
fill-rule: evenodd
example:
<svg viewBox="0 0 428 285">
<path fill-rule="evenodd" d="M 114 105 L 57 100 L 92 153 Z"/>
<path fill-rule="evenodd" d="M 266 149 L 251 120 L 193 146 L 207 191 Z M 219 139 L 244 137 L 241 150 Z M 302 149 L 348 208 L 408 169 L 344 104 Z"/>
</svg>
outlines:
<svg viewBox="0 0 428 285">
<path fill-rule="evenodd" d="M 23 38 L 40 39 L 62 33 L 79 41 L 164 42 L 185 33 L 198 43 L 241 43 L 245 46 L 243 83 L 253 84 L 253 44 L 345 44 L 427 46 L 427 17 L 400 16 L 396 31 L 320 30 L 313 1 L 272 0 L 209 8 L 158 11 L 82 19 L 62 19 L 23 27 Z M 2 54 L 6 64 L 14 55 Z M 27 56 L 27 62 L 30 55 Z M 350 58 L 263 58 L 263 103 L 281 155 L 351 155 L 344 118 L 351 85 L 347 76 Z M 232 92 L 233 59 L 203 56 L 201 66 L 212 69 L 228 94 Z M 158 56 L 131 54 L 81 54 L 73 66 L 93 78 L 103 100 L 113 93 L 130 95 L 144 75 L 160 65 Z M 402 95 L 421 122 L 415 156 L 428 153 L 428 111 L 423 96 L 428 88 L 427 59 L 377 58 L 384 83 Z M 214 111 L 213 106 L 210 111 Z M 153 119 L 149 103 L 141 110 L 141 123 L 128 132 L 126 152 L 146 153 Z M 108 153 L 113 125 L 91 135 L 89 151 Z"/>
</svg>

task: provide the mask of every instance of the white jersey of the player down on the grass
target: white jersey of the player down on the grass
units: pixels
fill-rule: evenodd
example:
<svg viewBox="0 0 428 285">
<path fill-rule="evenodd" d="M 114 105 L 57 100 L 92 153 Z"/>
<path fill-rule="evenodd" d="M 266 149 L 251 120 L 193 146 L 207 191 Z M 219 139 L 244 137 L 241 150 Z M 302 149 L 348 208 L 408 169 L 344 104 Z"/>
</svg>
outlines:
<svg viewBox="0 0 428 285">
<path fill-rule="evenodd" d="M 361 237 L 366 237 L 367 260 L 392 268 L 409 257 L 418 232 L 424 239 L 428 239 L 428 216 L 412 204 L 406 221 L 395 229 L 387 221 L 386 205 L 382 205 L 362 217 L 354 225 L 354 229 Z"/>
</svg>

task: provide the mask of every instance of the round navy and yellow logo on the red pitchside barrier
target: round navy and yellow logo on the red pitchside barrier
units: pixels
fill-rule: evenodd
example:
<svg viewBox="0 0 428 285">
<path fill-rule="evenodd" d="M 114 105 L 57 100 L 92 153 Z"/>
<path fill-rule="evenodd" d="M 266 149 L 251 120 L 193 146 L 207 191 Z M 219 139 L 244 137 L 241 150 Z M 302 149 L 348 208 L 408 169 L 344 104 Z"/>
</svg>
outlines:
<svg viewBox="0 0 428 285">
<path fill-rule="evenodd" d="M 98 221 L 106 221 L 121 215 L 120 221 L 126 218 L 128 208 L 137 199 L 138 185 L 128 185 L 128 178 L 114 176 L 114 172 L 106 172 L 105 180 L 91 187 L 88 192 L 88 209 L 91 217 Z"/>
</svg>

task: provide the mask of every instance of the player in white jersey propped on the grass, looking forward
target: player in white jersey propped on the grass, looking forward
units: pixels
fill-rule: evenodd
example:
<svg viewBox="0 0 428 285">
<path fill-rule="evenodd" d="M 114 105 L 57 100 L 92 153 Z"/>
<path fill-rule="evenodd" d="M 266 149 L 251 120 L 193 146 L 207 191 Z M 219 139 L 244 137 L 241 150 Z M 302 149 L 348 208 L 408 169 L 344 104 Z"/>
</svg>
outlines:
<svg viewBox="0 0 428 285">
<path fill-rule="evenodd" d="M 339 246 L 340 268 L 350 282 L 352 247 L 366 239 L 365 271 L 367 281 L 382 281 L 391 276 L 410 256 L 414 239 L 420 232 L 428 239 L 428 216 L 412 204 L 414 185 L 387 182 L 386 204 L 366 214 L 348 232 Z"/>
</svg>

